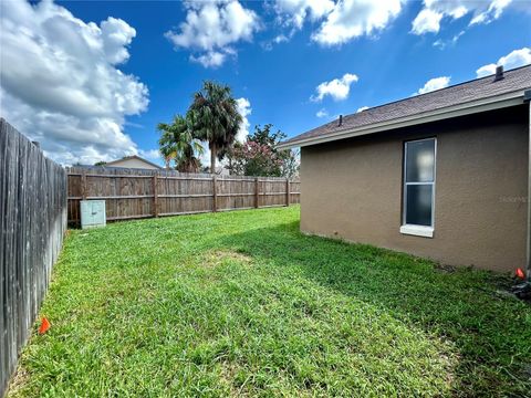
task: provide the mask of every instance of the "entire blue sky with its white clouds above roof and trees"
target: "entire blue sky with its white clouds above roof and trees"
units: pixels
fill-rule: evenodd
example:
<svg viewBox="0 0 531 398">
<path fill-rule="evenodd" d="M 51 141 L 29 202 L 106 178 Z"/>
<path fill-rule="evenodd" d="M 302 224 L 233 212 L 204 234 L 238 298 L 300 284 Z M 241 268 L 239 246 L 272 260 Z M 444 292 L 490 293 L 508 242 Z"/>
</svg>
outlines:
<svg viewBox="0 0 531 398">
<path fill-rule="evenodd" d="M 232 14 L 229 3 L 238 6 Z M 476 78 L 485 65 L 479 74 L 497 63 L 531 62 L 527 1 L 229 3 L 3 2 L 2 114 L 65 164 L 132 153 L 162 164 L 155 126 L 185 113 L 204 80 L 227 83 L 247 100 L 248 129 L 271 123 L 293 136 L 410 96 L 430 80 L 424 91 Z M 215 11 L 212 25 L 200 19 L 205 7 Z M 199 15 L 197 24 L 190 15 Z M 69 21 L 64 29 L 56 28 L 61 19 Z M 90 51 L 81 52 L 76 34 Z M 204 65 L 201 56 L 217 64 Z M 58 71 L 63 88 L 52 78 Z"/>
</svg>

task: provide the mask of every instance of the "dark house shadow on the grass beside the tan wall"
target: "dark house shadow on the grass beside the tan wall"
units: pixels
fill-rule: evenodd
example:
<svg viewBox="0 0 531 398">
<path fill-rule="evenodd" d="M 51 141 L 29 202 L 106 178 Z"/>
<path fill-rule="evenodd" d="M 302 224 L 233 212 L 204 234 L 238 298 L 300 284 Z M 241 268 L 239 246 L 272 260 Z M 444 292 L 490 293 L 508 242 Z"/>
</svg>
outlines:
<svg viewBox="0 0 531 398">
<path fill-rule="evenodd" d="M 458 396 L 527 396 L 531 387 L 531 307 L 497 293 L 500 274 L 458 269 L 337 240 L 306 237 L 299 222 L 222 238 L 257 260 L 376 305 L 393 316 L 450 339 L 460 360 Z"/>
</svg>

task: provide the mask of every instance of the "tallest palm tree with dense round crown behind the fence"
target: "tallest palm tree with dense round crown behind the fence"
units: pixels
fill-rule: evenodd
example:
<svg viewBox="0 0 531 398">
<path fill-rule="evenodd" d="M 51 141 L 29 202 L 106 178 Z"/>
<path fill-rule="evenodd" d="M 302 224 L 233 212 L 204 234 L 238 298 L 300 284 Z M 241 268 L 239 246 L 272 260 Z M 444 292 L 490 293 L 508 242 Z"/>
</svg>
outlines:
<svg viewBox="0 0 531 398">
<path fill-rule="evenodd" d="M 187 118 L 195 137 L 208 142 L 210 172 L 216 172 L 216 158 L 222 158 L 232 146 L 242 121 L 230 87 L 205 81 L 202 88 L 194 94 Z"/>
</svg>

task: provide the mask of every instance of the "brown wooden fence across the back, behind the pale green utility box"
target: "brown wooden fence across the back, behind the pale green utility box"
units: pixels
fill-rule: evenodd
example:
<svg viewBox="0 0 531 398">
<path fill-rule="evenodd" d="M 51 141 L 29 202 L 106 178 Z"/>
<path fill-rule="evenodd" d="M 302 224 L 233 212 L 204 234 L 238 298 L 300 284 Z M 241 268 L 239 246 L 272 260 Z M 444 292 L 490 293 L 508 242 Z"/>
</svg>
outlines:
<svg viewBox="0 0 531 398">
<path fill-rule="evenodd" d="M 300 182 L 280 177 L 81 166 L 67 174 L 72 223 L 80 222 L 83 199 L 105 199 L 110 221 L 289 206 L 300 199 Z"/>
</svg>

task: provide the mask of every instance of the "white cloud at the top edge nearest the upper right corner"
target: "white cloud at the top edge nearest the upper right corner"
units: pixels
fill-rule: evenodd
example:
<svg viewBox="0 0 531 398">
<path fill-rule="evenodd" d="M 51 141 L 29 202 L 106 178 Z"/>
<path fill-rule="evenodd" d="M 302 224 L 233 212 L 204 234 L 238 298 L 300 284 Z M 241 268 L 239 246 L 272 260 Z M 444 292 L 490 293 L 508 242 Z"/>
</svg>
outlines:
<svg viewBox="0 0 531 398">
<path fill-rule="evenodd" d="M 501 17 L 512 0 L 424 0 L 424 8 L 412 24 L 415 34 L 437 33 L 444 19 L 460 19 L 471 13 L 469 24 L 490 23 Z"/>
</svg>

